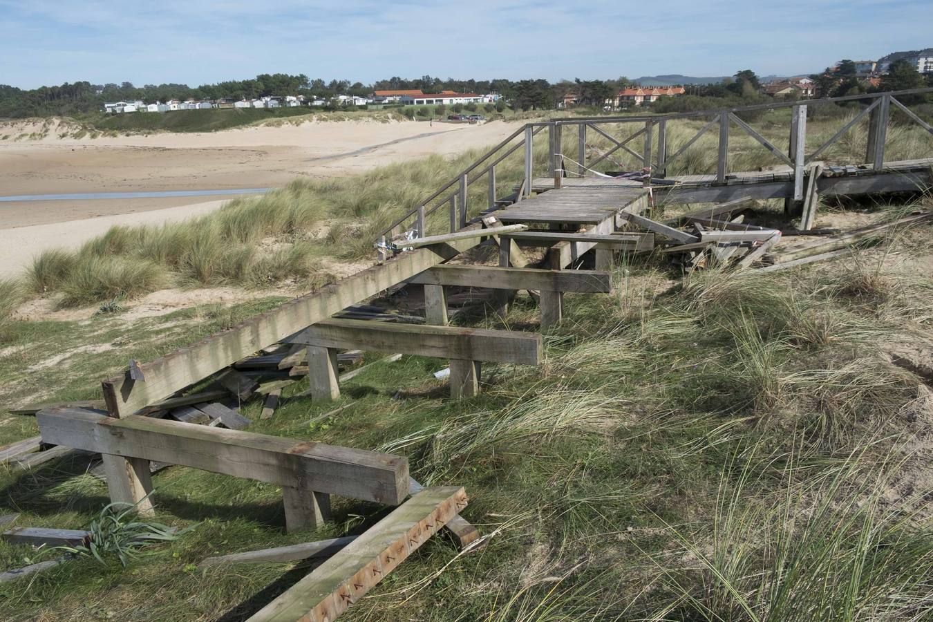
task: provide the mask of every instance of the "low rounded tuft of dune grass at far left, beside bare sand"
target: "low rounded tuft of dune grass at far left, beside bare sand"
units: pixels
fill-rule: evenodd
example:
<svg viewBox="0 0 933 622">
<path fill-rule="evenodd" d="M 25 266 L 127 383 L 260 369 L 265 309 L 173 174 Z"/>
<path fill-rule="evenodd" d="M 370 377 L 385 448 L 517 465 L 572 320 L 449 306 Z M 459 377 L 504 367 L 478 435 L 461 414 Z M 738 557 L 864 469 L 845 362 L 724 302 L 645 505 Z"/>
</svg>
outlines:
<svg viewBox="0 0 933 622">
<path fill-rule="evenodd" d="M 145 259 L 88 257 L 80 260 L 61 284 L 60 306 L 135 297 L 155 291 L 163 281 L 161 268 Z"/>
</svg>

